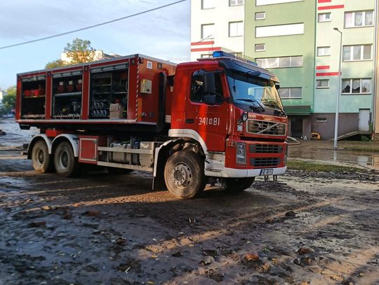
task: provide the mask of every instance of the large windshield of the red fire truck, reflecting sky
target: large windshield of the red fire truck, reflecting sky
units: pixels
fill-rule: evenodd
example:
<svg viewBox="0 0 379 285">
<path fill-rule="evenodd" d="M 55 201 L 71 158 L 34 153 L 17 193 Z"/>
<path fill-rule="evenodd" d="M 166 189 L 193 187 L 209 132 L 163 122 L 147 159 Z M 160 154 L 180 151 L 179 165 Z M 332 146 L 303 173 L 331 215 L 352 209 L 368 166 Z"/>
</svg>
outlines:
<svg viewBox="0 0 379 285">
<path fill-rule="evenodd" d="M 261 111 L 266 108 L 283 110 L 274 81 L 236 72 L 228 72 L 227 81 L 235 103 L 247 104 Z"/>
</svg>

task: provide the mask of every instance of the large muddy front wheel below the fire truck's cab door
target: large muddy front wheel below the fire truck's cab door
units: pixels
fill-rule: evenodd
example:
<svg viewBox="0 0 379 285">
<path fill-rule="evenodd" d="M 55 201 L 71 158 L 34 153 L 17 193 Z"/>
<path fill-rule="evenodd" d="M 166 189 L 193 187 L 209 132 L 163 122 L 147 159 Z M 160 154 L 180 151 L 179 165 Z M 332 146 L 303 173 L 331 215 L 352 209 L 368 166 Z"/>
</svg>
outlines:
<svg viewBox="0 0 379 285">
<path fill-rule="evenodd" d="M 204 162 L 193 151 L 178 151 L 166 162 L 164 181 L 168 191 L 176 197 L 199 196 L 206 186 Z"/>
</svg>

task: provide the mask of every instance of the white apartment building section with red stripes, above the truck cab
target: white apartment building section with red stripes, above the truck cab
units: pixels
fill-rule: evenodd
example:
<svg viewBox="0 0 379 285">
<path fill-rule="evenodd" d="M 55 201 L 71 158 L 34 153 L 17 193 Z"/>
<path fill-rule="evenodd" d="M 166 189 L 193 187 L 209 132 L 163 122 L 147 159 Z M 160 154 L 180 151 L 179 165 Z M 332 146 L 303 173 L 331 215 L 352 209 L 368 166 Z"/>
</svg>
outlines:
<svg viewBox="0 0 379 285">
<path fill-rule="evenodd" d="M 244 0 L 192 0 L 191 60 L 220 49 L 244 53 Z"/>
</svg>

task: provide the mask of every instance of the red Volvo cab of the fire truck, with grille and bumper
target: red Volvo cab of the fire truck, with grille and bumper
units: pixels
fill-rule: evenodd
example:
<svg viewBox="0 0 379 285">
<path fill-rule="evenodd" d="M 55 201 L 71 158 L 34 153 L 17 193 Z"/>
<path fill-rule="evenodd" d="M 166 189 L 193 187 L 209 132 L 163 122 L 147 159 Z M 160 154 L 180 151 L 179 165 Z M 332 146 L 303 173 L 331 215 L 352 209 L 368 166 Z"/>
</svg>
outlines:
<svg viewBox="0 0 379 285">
<path fill-rule="evenodd" d="M 274 74 L 222 52 L 179 64 L 169 136 L 199 141 L 204 174 L 229 188 L 283 174 L 287 116 L 278 88 Z"/>
</svg>

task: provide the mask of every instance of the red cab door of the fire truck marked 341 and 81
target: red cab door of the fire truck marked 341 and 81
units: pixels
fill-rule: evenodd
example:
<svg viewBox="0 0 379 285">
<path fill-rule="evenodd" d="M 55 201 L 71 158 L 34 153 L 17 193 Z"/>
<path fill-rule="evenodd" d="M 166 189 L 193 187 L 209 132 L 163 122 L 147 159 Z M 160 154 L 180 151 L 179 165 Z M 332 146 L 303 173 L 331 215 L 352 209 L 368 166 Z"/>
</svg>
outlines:
<svg viewBox="0 0 379 285">
<path fill-rule="evenodd" d="M 196 131 L 205 141 L 208 151 L 225 151 L 225 137 L 229 118 L 226 102 L 225 77 L 215 72 L 215 104 L 204 102 L 204 79 L 201 74 L 192 74 L 189 97 L 185 106 L 185 129 Z"/>
</svg>

